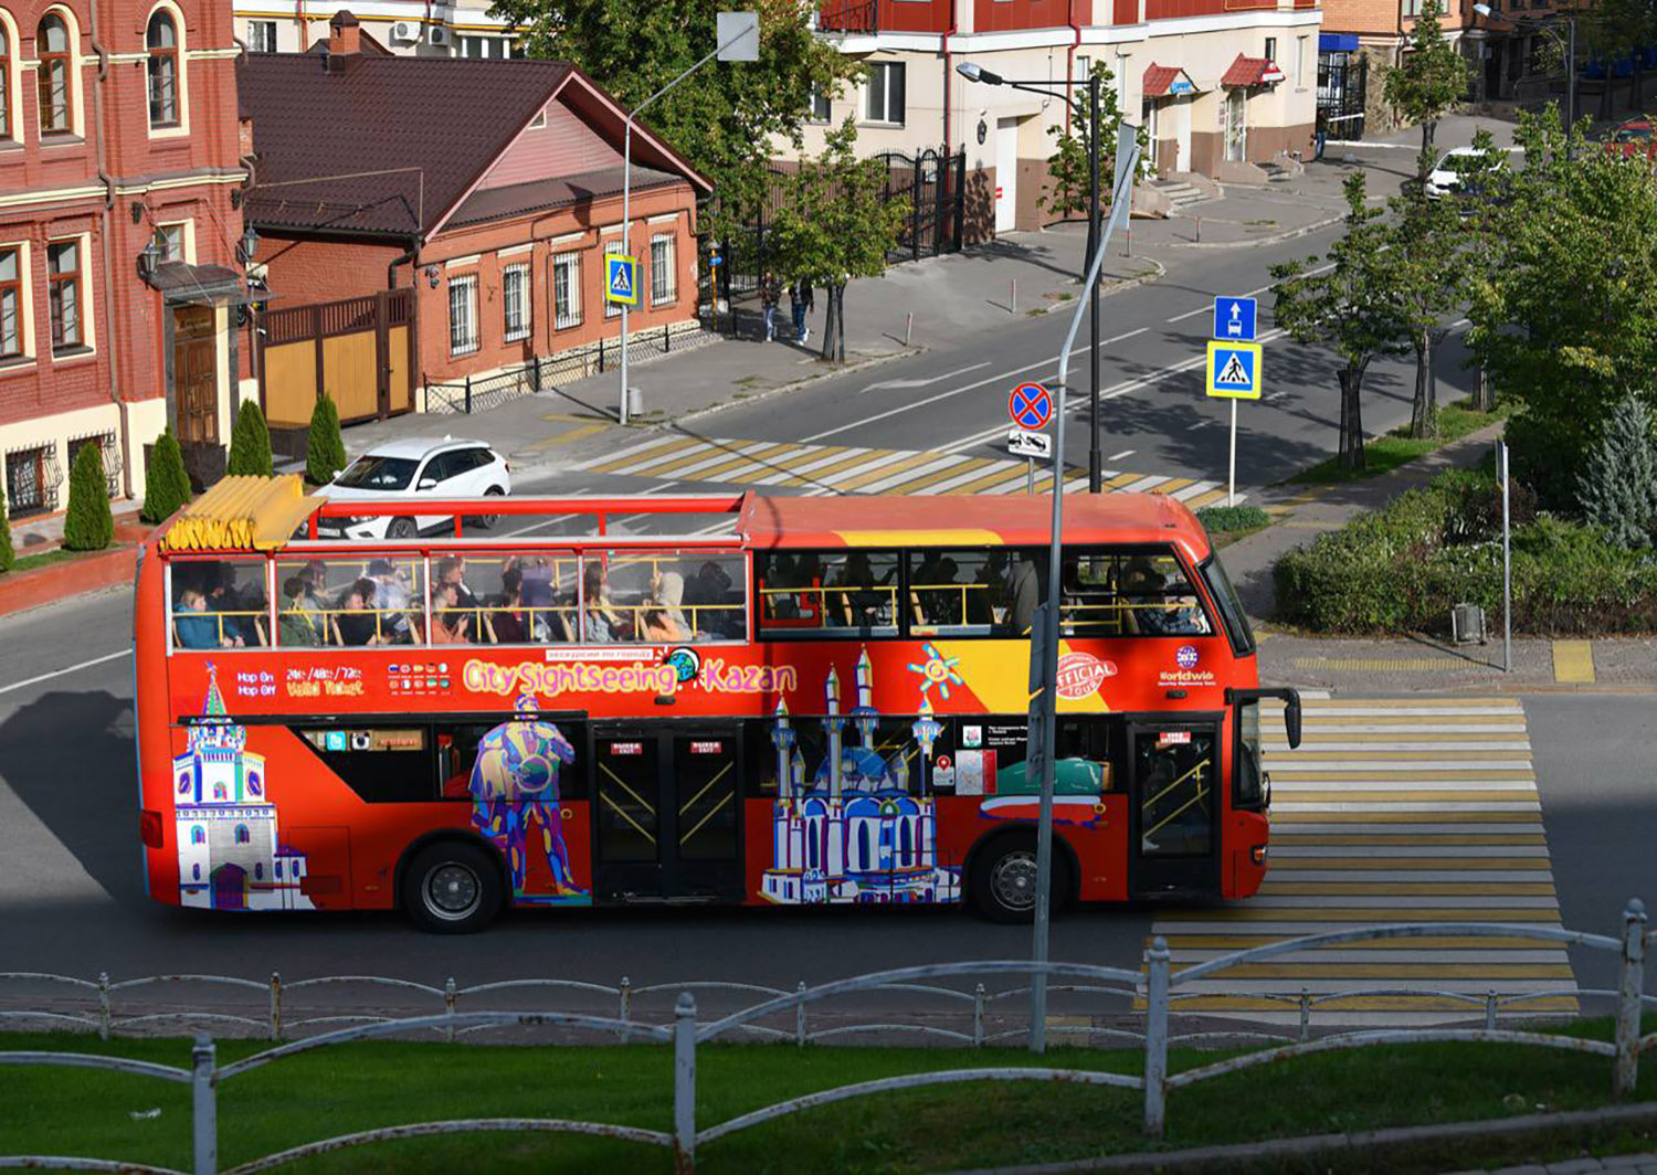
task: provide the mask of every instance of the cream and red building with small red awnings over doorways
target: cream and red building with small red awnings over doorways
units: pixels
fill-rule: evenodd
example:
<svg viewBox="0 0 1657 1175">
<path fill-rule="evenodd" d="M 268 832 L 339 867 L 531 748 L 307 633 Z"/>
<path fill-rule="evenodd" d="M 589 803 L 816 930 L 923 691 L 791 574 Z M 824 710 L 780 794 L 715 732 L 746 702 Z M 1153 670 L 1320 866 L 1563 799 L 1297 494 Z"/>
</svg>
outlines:
<svg viewBox="0 0 1657 1175">
<path fill-rule="evenodd" d="M 968 237 L 1034 229 L 1065 106 L 956 66 L 1054 88 L 1107 68 L 1162 176 L 1261 182 L 1311 152 L 1319 18 L 1317 0 L 822 0 L 819 35 L 868 73 L 819 96 L 807 151 L 848 113 L 860 152 L 964 147 Z"/>
</svg>

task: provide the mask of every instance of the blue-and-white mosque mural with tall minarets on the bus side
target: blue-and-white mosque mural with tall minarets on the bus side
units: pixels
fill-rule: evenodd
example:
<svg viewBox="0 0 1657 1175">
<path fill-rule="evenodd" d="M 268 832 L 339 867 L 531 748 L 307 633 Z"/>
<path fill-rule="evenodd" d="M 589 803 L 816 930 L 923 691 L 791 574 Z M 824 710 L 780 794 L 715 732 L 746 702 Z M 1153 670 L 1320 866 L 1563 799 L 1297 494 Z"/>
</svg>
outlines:
<svg viewBox="0 0 1657 1175">
<path fill-rule="evenodd" d="M 925 772 L 943 726 L 921 699 L 910 728 L 888 756 L 875 739 L 868 650 L 857 658 L 857 706 L 840 713 L 840 678 L 825 681 L 827 751 L 807 777 L 787 706 L 777 703 L 771 741 L 777 754 L 777 799 L 772 804 L 772 863 L 762 897 L 779 905 L 842 902 L 956 902 L 959 868 L 938 865 L 938 819 Z M 850 719 L 850 736 L 847 734 Z M 913 752 L 911 752 L 913 747 Z M 920 794 L 910 794 L 911 771 Z"/>
</svg>

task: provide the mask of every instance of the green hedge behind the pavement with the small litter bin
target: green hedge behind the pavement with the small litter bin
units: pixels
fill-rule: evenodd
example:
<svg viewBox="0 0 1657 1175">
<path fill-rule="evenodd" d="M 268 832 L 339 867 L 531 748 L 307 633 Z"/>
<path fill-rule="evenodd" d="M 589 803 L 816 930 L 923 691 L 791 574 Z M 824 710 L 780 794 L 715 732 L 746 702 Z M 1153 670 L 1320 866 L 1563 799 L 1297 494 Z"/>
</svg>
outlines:
<svg viewBox="0 0 1657 1175">
<path fill-rule="evenodd" d="M 1321 633 L 1447 631 L 1450 610 L 1501 615 L 1501 499 L 1488 472 L 1442 474 L 1274 568 L 1278 620 Z M 1513 628 L 1657 633 L 1657 557 L 1536 514 L 1514 484 Z"/>
</svg>

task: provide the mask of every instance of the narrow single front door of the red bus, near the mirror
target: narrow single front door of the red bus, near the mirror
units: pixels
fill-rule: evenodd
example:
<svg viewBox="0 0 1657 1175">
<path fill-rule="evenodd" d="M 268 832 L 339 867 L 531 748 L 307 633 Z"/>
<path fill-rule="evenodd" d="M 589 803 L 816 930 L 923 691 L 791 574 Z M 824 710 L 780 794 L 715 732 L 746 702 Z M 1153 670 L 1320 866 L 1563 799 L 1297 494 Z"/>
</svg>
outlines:
<svg viewBox="0 0 1657 1175">
<path fill-rule="evenodd" d="M 1128 726 L 1135 893 L 1220 892 L 1218 747 L 1211 723 Z"/>
</svg>

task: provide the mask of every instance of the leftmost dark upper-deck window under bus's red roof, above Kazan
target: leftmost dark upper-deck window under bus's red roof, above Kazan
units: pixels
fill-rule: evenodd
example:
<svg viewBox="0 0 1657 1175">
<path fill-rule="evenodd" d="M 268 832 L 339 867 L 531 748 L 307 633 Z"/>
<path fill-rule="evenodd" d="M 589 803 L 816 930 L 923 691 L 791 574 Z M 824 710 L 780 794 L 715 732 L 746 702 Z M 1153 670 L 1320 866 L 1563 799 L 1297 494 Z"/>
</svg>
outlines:
<svg viewBox="0 0 1657 1175">
<path fill-rule="evenodd" d="M 898 635 L 898 554 L 772 552 L 759 557 L 759 626 L 769 635 Z"/>
</svg>

